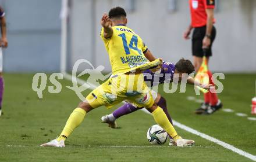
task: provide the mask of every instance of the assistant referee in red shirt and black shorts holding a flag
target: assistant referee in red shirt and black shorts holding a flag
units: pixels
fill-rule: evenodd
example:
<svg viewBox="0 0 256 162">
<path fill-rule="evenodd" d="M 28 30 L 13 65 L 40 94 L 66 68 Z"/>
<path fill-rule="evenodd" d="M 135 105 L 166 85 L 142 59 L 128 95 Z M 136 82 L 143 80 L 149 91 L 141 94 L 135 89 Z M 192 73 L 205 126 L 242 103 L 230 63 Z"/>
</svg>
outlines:
<svg viewBox="0 0 256 162">
<path fill-rule="evenodd" d="M 184 32 L 184 39 L 190 39 L 190 32 L 193 31 L 192 36 L 192 54 L 194 60 L 195 72 L 198 71 L 202 64 L 202 57 L 204 56 L 204 50 L 207 57 L 212 56 L 212 43 L 216 36 L 216 28 L 214 27 L 214 0 L 189 0 L 191 23 L 187 30 Z M 214 85 L 212 73 L 208 72 L 209 82 Z M 204 94 L 204 102 L 201 104 L 195 113 L 197 114 L 212 114 L 218 109 L 222 108 L 222 103 L 218 99 L 216 93 Z"/>
</svg>

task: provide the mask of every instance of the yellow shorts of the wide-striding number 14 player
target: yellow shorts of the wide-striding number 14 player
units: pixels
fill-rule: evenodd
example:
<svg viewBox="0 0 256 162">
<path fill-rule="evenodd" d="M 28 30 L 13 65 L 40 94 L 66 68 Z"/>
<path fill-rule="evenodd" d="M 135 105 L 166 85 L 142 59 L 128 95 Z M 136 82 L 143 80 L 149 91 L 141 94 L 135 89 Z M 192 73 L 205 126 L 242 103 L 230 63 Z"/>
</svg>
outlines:
<svg viewBox="0 0 256 162">
<path fill-rule="evenodd" d="M 86 100 L 93 108 L 103 105 L 112 108 L 124 100 L 145 108 L 154 104 L 142 73 L 113 76 L 88 94 Z"/>
</svg>

